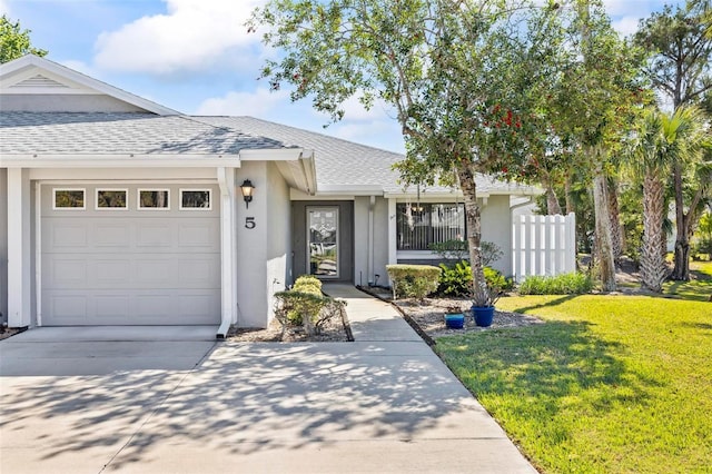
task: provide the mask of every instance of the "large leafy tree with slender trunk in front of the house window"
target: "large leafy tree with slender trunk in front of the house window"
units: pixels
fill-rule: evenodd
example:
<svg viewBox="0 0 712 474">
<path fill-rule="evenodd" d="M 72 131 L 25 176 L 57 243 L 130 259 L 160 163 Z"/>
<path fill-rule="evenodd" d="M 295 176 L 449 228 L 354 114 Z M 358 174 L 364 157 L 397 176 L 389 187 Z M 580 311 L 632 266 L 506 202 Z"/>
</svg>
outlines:
<svg viewBox="0 0 712 474">
<path fill-rule="evenodd" d="M 280 50 L 261 73 L 273 90 L 290 87 L 293 100 L 310 99 L 334 121 L 349 100 L 385 102 L 406 140 L 403 182 L 459 181 L 484 304 L 474 176 L 535 180 L 532 158 L 556 142 L 544 102 L 566 45 L 562 11 L 528 0 L 271 0 L 247 26 Z"/>
</svg>

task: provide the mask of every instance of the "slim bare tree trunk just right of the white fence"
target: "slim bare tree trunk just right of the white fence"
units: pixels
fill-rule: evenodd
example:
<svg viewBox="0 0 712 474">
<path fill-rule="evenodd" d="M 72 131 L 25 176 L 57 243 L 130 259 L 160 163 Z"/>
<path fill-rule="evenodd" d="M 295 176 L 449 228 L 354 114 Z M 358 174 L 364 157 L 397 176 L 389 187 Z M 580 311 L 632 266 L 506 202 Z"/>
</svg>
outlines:
<svg viewBox="0 0 712 474">
<path fill-rule="evenodd" d="M 611 245 L 611 216 L 609 216 L 607 178 L 605 177 L 601 161 L 602 157 L 595 155 L 600 151 L 591 150 L 591 157 L 599 165 L 593 178 L 593 209 L 596 220 L 595 255 L 601 274 L 601 285 L 604 292 L 615 292 L 615 261 Z"/>
</svg>

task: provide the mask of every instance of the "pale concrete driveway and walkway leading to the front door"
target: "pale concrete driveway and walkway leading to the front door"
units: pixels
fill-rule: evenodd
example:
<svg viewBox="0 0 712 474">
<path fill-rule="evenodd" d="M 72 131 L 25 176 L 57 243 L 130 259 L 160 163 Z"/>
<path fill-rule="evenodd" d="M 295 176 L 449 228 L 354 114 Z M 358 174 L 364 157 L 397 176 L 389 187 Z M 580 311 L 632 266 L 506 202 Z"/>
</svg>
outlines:
<svg viewBox="0 0 712 474">
<path fill-rule="evenodd" d="M 536 472 L 389 305 L 325 290 L 355 343 L 0 342 L 0 472 Z"/>
</svg>

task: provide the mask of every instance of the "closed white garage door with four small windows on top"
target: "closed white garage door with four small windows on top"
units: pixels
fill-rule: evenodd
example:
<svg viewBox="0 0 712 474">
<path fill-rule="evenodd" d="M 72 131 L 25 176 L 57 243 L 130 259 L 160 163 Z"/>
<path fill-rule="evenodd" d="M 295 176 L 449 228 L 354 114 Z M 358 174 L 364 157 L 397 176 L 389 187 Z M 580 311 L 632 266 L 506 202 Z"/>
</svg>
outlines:
<svg viewBox="0 0 712 474">
<path fill-rule="evenodd" d="M 47 326 L 220 322 L 220 210 L 206 185 L 42 185 Z"/>
</svg>

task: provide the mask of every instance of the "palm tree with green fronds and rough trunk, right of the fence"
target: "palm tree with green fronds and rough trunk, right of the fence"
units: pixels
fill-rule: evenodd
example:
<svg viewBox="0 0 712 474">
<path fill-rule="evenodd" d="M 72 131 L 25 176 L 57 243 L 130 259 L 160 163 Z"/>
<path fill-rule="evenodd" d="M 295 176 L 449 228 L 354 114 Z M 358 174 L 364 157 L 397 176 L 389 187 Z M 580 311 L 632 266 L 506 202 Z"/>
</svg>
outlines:
<svg viewBox="0 0 712 474">
<path fill-rule="evenodd" d="M 662 292 L 668 276 L 661 241 L 665 238 L 665 182 L 676 162 L 686 162 L 705 140 L 703 116 L 695 107 L 681 107 L 670 116 L 647 110 L 636 130 L 629 168 L 643 180 L 643 245 L 641 285 Z"/>
</svg>

